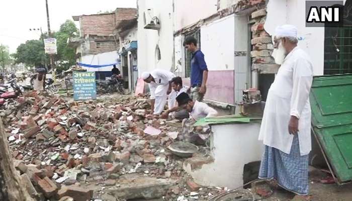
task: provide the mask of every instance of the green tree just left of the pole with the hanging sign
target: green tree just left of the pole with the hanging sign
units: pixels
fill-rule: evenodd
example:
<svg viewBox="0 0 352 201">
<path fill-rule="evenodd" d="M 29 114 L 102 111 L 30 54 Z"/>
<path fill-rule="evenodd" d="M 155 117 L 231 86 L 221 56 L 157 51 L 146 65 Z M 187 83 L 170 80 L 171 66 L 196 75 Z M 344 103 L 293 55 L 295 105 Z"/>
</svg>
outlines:
<svg viewBox="0 0 352 201">
<path fill-rule="evenodd" d="M 24 63 L 29 66 L 44 66 L 45 52 L 43 41 L 30 40 L 17 47 L 15 54 L 16 63 Z"/>
</svg>

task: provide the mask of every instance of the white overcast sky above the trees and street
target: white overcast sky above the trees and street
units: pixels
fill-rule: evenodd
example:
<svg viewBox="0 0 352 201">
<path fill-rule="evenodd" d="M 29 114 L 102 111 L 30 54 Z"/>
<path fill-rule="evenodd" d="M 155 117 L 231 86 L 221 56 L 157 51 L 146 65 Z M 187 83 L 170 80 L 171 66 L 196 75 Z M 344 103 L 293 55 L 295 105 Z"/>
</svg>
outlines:
<svg viewBox="0 0 352 201">
<path fill-rule="evenodd" d="M 116 8 L 136 8 L 136 0 L 48 0 L 50 28 L 58 30 L 60 24 L 72 16 L 113 11 Z M 27 40 L 39 39 L 40 31 L 30 28 L 42 27 L 47 32 L 45 0 L 10 0 L 0 7 L 0 43 L 16 48 Z M 78 27 L 77 27 L 78 28 Z"/>
</svg>

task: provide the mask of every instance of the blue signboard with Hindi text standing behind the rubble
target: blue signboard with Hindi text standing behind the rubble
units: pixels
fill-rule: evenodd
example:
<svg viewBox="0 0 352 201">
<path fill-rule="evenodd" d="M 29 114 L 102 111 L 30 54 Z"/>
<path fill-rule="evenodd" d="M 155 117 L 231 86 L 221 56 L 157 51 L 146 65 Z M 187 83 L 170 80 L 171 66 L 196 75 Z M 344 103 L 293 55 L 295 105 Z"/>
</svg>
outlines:
<svg viewBox="0 0 352 201">
<path fill-rule="evenodd" d="M 73 72 L 73 98 L 97 99 L 96 72 Z"/>
</svg>

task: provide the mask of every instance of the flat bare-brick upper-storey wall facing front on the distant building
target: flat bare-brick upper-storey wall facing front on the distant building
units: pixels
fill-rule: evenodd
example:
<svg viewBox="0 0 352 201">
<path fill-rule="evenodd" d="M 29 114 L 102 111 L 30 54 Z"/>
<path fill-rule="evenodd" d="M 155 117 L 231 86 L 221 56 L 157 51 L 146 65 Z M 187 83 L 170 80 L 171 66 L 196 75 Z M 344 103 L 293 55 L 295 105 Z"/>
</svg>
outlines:
<svg viewBox="0 0 352 201">
<path fill-rule="evenodd" d="M 81 36 L 109 36 L 115 29 L 115 13 L 90 16 L 80 16 Z"/>
</svg>

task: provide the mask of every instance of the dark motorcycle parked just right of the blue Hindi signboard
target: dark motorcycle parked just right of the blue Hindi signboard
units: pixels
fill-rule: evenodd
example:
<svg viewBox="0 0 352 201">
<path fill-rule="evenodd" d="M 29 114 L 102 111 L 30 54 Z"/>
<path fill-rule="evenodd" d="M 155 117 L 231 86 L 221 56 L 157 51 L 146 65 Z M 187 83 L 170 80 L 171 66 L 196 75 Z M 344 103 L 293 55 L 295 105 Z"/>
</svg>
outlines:
<svg viewBox="0 0 352 201">
<path fill-rule="evenodd" d="M 119 76 L 113 75 L 107 80 L 97 80 L 97 90 L 98 92 L 112 93 L 119 92 L 121 94 L 125 93 L 124 84 L 119 79 Z"/>
</svg>

